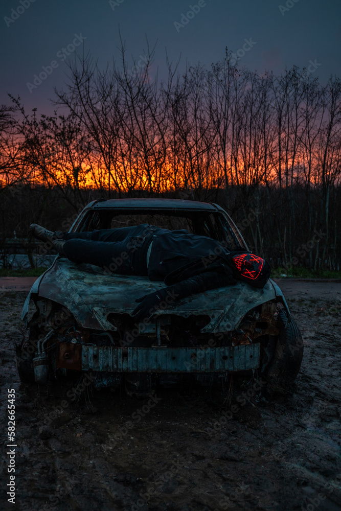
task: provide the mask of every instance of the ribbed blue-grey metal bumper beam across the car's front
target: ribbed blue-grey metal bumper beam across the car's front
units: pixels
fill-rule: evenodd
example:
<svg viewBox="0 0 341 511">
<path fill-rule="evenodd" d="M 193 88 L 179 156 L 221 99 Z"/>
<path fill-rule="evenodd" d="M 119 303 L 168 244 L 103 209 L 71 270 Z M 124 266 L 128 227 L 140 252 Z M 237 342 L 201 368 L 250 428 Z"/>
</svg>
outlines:
<svg viewBox="0 0 341 511">
<path fill-rule="evenodd" d="M 216 373 L 259 367 L 260 344 L 191 348 L 83 344 L 81 369 L 139 373 Z"/>
</svg>

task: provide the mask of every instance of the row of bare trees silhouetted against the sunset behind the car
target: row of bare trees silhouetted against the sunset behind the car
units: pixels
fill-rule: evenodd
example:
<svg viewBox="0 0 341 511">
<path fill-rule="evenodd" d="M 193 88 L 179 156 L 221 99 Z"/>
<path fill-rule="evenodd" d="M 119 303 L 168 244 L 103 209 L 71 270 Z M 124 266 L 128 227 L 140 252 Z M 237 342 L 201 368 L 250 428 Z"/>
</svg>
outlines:
<svg viewBox="0 0 341 511">
<path fill-rule="evenodd" d="M 104 70 L 76 56 L 53 115 L 0 108 L 3 240 L 95 197 L 168 196 L 221 204 L 275 265 L 339 270 L 340 79 L 259 75 L 226 50 L 159 80 L 154 49 L 132 67 L 121 51 Z"/>
</svg>

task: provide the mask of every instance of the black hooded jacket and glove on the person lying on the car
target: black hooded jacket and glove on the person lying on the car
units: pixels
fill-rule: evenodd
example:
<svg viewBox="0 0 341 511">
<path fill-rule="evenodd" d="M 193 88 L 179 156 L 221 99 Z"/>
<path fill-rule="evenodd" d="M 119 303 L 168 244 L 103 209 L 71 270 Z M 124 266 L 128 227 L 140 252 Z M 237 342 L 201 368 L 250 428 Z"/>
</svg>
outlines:
<svg viewBox="0 0 341 511">
<path fill-rule="evenodd" d="M 247 278 L 237 269 L 234 261 L 236 255 L 240 255 L 240 258 L 236 258 L 240 269 L 240 261 L 258 259 L 253 254 L 247 258 L 247 254 L 250 252 L 242 247 L 227 251 L 217 241 L 189 234 L 186 230 L 154 233 L 148 276 L 150 280 L 164 280 L 167 287 L 138 298 L 136 301 L 140 305 L 133 311 L 133 316 L 138 321 L 151 317 L 162 301 L 168 303 L 165 301 L 167 295 L 179 300 L 195 293 L 234 285 L 237 280 L 254 287 L 264 287 L 270 276 L 270 265 L 266 261 L 261 263 L 255 280 Z"/>
</svg>

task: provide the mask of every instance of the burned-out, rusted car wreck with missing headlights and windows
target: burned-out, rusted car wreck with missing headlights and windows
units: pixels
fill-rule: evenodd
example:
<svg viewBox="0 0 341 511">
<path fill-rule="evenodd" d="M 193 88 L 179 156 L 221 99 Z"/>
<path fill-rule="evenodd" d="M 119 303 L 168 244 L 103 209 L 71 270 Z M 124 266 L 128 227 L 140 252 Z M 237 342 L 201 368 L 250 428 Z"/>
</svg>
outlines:
<svg viewBox="0 0 341 511">
<path fill-rule="evenodd" d="M 220 206 L 187 200 L 93 201 L 70 232 L 144 222 L 185 227 L 231 249 L 247 249 Z M 115 274 L 57 257 L 33 285 L 22 310 L 30 340 L 18 354 L 21 379 L 26 375 L 46 383 L 70 371 L 92 371 L 97 386 L 115 387 L 124 380 L 127 392 L 137 394 L 156 381 L 190 373 L 209 381 L 257 371 L 272 389 L 293 382 L 303 343 L 273 281 L 262 289 L 238 282 L 194 294 L 160 308 L 148 323 L 136 323 L 131 316 L 135 299 L 162 287 L 163 282 L 147 276 Z M 22 353 L 29 347 L 31 358 L 24 367 Z"/>
</svg>

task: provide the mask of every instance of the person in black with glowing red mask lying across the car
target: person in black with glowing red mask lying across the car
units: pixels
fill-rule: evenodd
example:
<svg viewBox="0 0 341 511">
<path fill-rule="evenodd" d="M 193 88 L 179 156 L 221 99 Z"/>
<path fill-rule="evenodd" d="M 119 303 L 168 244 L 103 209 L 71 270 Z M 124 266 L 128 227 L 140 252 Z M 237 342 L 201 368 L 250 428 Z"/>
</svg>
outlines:
<svg viewBox="0 0 341 511">
<path fill-rule="evenodd" d="M 30 230 L 36 238 L 52 241 L 62 257 L 75 263 L 164 281 L 167 287 L 135 300 L 139 305 L 132 314 L 137 321 L 150 318 L 169 296 L 181 299 L 237 280 L 262 288 L 271 271 L 267 261 L 242 247 L 228 250 L 223 243 L 186 229 L 168 230 L 145 223 L 83 233 L 53 233 L 37 224 L 31 224 Z"/>
</svg>

